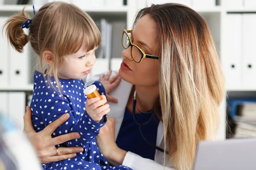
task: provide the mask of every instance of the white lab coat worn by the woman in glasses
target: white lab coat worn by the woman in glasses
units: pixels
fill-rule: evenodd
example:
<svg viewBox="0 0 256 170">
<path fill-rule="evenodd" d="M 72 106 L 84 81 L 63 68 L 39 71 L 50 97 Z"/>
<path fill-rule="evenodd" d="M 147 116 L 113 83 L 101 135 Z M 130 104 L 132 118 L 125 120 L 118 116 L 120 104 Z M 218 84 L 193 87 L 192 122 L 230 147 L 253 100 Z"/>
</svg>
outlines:
<svg viewBox="0 0 256 170">
<path fill-rule="evenodd" d="M 113 71 L 112 75 L 116 75 L 117 71 Z M 100 74 L 92 77 L 91 79 L 84 79 L 84 84 L 91 85 L 96 80 L 99 80 Z M 128 102 L 128 98 L 131 93 L 132 84 L 121 80 L 119 86 L 114 89 L 110 95 L 118 99 L 118 103 L 108 102 L 110 105 L 111 111 L 108 113 L 109 116 L 113 117 L 116 120 L 116 130 L 115 130 L 115 139 L 119 133 L 120 127 L 122 125 L 122 120 L 125 114 L 125 108 Z M 158 147 L 163 148 L 163 122 L 160 121 L 157 128 L 157 142 Z M 167 164 L 167 155 L 166 155 L 166 167 L 165 170 L 174 170 Z M 163 167 L 163 153 L 159 150 L 156 150 L 154 161 L 151 159 L 145 159 L 135 153 L 128 152 L 123 161 L 123 165 L 131 167 L 133 170 L 164 170 Z"/>
</svg>

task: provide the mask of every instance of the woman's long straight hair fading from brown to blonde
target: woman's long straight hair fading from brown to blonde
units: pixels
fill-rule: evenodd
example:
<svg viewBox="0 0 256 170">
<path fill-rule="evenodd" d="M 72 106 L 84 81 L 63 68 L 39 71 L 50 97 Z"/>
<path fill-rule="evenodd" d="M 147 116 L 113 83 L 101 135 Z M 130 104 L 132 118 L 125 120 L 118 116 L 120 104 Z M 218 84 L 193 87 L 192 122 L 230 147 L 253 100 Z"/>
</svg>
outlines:
<svg viewBox="0 0 256 170">
<path fill-rule="evenodd" d="M 157 23 L 168 161 L 177 170 L 190 170 L 198 142 L 211 140 L 218 130 L 218 107 L 225 94 L 220 60 L 207 22 L 191 8 L 153 4 L 138 12 L 134 26 L 146 14 Z"/>
</svg>

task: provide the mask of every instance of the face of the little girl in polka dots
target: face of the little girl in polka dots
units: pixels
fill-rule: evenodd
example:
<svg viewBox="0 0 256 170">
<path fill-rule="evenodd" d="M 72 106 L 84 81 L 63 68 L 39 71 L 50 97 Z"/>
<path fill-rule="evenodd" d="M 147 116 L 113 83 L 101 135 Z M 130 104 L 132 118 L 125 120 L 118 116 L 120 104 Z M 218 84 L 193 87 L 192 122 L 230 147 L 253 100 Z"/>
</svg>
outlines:
<svg viewBox="0 0 256 170">
<path fill-rule="evenodd" d="M 58 77 L 61 79 L 84 79 L 90 73 L 96 57 L 96 48 L 87 51 L 86 44 L 82 44 L 79 51 L 67 56 L 58 70 Z"/>
</svg>

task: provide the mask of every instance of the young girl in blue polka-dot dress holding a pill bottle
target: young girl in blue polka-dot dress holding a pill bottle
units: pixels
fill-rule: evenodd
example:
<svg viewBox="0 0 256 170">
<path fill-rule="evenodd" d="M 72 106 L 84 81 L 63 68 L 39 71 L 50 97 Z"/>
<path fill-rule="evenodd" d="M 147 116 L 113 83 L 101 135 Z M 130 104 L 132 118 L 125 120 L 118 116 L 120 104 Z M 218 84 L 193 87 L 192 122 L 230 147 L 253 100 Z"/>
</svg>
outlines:
<svg viewBox="0 0 256 170">
<path fill-rule="evenodd" d="M 35 10 L 34 10 L 35 14 Z M 70 118 L 59 126 L 52 136 L 79 132 L 80 139 L 70 140 L 58 147 L 81 146 L 84 150 L 72 159 L 43 164 L 44 170 L 67 169 L 122 169 L 111 167 L 99 152 L 95 137 L 107 121 L 110 111 L 106 98 L 88 99 L 84 96 L 81 79 L 87 77 L 95 63 L 94 51 L 100 44 L 100 32 L 93 20 L 78 7 L 63 2 L 47 3 L 31 20 L 24 12 L 6 22 L 6 34 L 11 45 L 19 52 L 27 42 L 40 56 L 42 72 L 35 71 L 31 102 L 32 122 L 41 131 L 63 113 Z M 29 28 L 27 36 L 22 28 Z M 47 63 L 44 70 L 43 61 Z M 102 84 L 94 83 L 100 94 L 105 94 Z M 55 155 L 58 155 L 56 148 Z"/>
</svg>

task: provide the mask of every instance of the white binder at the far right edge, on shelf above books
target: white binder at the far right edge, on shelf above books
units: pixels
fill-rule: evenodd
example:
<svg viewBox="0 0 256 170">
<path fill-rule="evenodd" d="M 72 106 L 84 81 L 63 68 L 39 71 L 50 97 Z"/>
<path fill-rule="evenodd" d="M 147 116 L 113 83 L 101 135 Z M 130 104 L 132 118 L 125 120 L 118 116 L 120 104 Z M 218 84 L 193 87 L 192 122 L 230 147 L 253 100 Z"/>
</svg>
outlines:
<svg viewBox="0 0 256 170">
<path fill-rule="evenodd" d="M 243 83 L 245 88 L 255 88 L 256 79 L 256 14 L 243 14 Z"/>
</svg>

